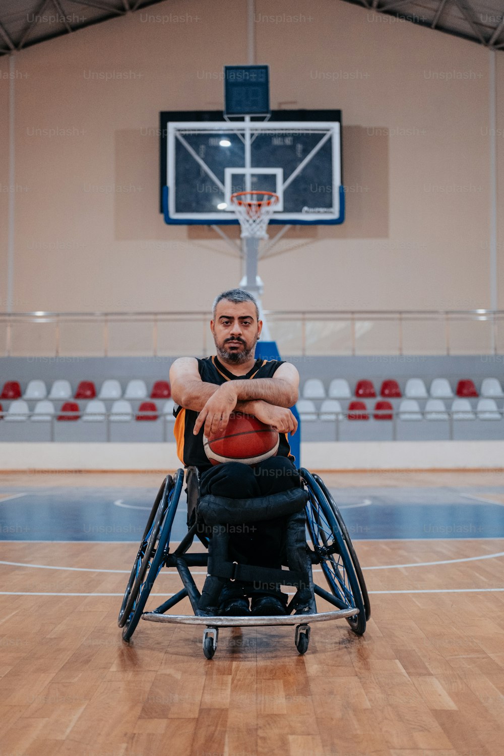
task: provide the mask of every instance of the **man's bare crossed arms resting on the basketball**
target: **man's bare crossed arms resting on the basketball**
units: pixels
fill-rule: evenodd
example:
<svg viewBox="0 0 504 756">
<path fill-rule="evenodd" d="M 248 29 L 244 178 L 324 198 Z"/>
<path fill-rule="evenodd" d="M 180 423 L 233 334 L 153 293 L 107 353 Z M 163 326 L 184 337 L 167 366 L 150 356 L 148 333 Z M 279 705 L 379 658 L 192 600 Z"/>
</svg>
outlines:
<svg viewBox="0 0 504 756">
<path fill-rule="evenodd" d="M 299 375 L 284 363 L 273 378 L 229 380 L 221 386 L 204 383 L 192 357 L 176 360 L 170 368 L 172 397 L 176 404 L 199 412 L 194 434 L 205 424 L 205 435 L 224 431 L 231 412 L 246 412 L 280 433 L 295 433 L 298 423 L 289 407 L 298 401 Z"/>
</svg>

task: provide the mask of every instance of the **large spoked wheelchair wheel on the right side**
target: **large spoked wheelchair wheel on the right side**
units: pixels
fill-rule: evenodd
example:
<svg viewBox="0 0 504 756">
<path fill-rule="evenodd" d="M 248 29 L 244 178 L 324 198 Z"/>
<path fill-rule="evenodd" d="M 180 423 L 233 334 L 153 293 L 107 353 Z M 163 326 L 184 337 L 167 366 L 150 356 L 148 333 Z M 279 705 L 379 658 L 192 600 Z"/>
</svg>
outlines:
<svg viewBox="0 0 504 756">
<path fill-rule="evenodd" d="M 358 614 L 347 618 L 347 622 L 357 635 L 366 630 L 366 608 L 357 573 L 338 520 L 323 494 L 320 485 L 307 469 L 300 469 L 310 494 L 306 505 L 308 533 L 314 547 L 314 558 L 320 563 L 324 577 L 339 609 L 355 608 Z"/>
</svg>

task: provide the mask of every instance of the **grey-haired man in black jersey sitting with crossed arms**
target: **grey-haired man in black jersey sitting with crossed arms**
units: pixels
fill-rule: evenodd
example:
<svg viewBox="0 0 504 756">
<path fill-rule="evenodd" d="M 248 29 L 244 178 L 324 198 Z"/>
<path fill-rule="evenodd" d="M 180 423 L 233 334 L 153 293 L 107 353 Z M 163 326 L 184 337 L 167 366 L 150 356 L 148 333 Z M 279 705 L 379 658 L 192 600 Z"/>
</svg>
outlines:
<svg viewBox="0 0 504 756">
<path fill-rule="evenodd" d="M 210 328 L 217 355 L 179 358 L 170 369 L 172 398 L 178 405 L 174 413 L 178 457 L 184 466 L 198 469 L 200 497 L 254 500 L 299 489 L 301 480 L 288 441 L 298 425 L 289 409 L 298 399 L 298 371 L 288 362 L 254 358 L 262 322 L 255 299 L 246 291 L 228 290 L 215 299 Z M 203 433 L 224 432 L 233 411 L 254 415 L 277 429 L 280 442 L 275 457 L 254 466 L 211 465 Z M 302 513 L 299 517 L 303 520 Z M 227 558 L 280 569 L 287 519 L 283 514 L 233 528 Z M 304 525 L 298 523 L 299 528 L 304 533 Z M 286 604 L 287 596 L 275 581 L 227 580 L 218 598 L 219 613 L 224 616 L 282 615 Z"/>
</svg>

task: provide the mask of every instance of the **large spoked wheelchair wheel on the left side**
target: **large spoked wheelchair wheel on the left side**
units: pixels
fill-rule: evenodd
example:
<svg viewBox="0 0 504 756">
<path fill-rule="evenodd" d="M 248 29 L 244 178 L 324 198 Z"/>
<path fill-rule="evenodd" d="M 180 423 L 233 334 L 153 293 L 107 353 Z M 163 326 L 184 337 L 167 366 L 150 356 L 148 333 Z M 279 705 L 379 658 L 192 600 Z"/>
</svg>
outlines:
<svg viewBox="0 0 504 756">
<path fill-rule="evenodd" d="M 179 469 L 175 478 L 167 476 L 159 488 L 119 612 L 118 624 L 124 640 L 129 640 L 135 632 L 153 583 L 165 564 L 183 483 L 184 470 Z"/>
</svg>

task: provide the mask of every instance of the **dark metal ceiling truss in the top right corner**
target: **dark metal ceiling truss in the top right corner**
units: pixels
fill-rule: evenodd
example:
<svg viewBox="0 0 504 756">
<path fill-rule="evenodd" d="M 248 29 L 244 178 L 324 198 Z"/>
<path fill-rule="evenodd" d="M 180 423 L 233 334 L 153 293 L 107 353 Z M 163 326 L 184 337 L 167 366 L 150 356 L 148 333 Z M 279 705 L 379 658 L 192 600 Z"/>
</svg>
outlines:
<svg viewBox="0 0 504 756">
<path fill-rule="evenodd" d="M 502 50 L 504 48 L 504 42 L 499 42 L 504 30 L 504 8 L 499 10 L 499 14 L 496 14 L 493 9 L 484 7 L 484 0 L 483 2 L 481 0 L 470 0 L 470 2 L 469 0 L 439 0 L 435 11 L 422 0 L 343 0 L 343 2 L 363 5 L 369 11 L 388 14 L 398 19 L 410 21 L 410 23 L 419 24 L 419 26 L 428 26 L 430 29 L 438 29 L 441 32 L 469 39 L 491 50 Z M 478 2 L 478 10 L 475 8 L 475 2 Z M 500 5 L 502 6 L 502 2 Z M 478 21 L 478 11 L 480 11 L 481 21 Z M 491 19 L 495 23 L 495 27 L 490 30 L 490 33 L 489 27 L 491 28 L 492 24 L 483 23 L 481 11 L 486 11 L 487 20 Z M 444 19 L 443 24 L 440 24 L 441 17 Z M 467 27 L 465 30 L 459 28 L 459 23 L 450 25 L 450 20 L 460 21 L 460 17 Z"/>
</svg>

